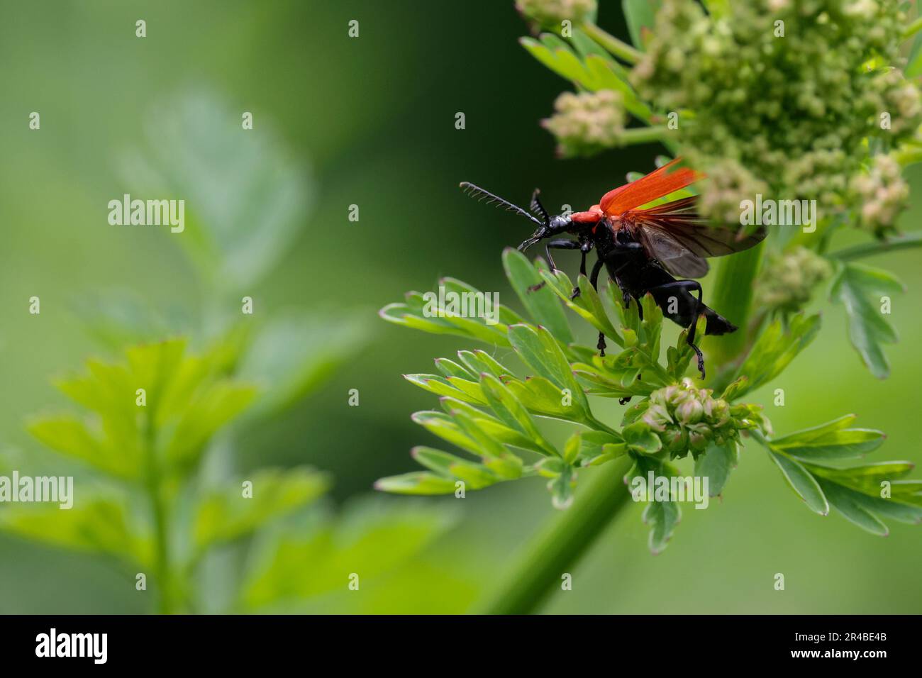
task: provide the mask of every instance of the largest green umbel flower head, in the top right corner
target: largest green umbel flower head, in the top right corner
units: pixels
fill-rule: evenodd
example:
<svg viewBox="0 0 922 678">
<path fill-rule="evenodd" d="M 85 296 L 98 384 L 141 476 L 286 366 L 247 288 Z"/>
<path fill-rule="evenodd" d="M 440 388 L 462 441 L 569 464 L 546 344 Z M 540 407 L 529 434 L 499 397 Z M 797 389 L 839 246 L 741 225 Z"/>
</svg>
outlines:
<svg viewBox="0 0 922 678">
<path fill-rule="evenodd" d="M 676 133 L 696 168 L 713 175 L 735 161 L 771 197 L 816 199 L 829 215 L 848 207 L 869 137 L 894 146 L 922 123 L 916 85 L 872 67 L 898 58 L 904 22 L 898 0 L 747 0 L 718 16 L 664 0 L 632 82 L 680 112 Z M 726 216 L 708 190 L 703 211 Z"/>
</svg>

